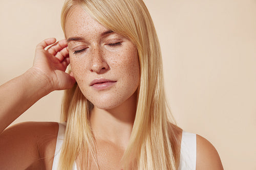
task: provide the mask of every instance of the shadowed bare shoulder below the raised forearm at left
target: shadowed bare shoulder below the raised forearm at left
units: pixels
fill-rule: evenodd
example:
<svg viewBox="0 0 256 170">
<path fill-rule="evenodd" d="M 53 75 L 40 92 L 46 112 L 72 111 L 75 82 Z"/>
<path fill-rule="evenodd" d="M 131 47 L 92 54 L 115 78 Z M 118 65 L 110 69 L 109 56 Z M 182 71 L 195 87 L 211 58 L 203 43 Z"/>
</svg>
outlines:
<svg viewBox="0 0 256 170">
<path fill-rule="evenodd" d="M 46 168 L 57 134 L 55 122 L 24 122 L 7 128 L 0 135 L 0 169 Z"/>
</svg>

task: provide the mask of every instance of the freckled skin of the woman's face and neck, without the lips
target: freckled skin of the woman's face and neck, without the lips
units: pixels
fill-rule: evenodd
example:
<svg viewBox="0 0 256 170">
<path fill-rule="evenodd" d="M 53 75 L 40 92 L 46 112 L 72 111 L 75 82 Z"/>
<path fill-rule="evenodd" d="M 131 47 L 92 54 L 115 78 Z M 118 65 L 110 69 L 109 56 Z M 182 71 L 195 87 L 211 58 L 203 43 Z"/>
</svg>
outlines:
<svg viewBox="0 0 256 170">
<path fill-rule="evenodd" d="M 125 149 L 136 113 L 138 53 L 129 39 L 114 32 L 102 35 L 108 31 L 78 6 L 70 12 L 65 27 L 74 77 L 84 96 L 94 104 L 90 119 L 94 134 L 100 141 Z M 69 41 L 72 37 L 79 40 Z M 90 86 L 101 78 L 115 83 L 103 90 Z"/>
</svg>

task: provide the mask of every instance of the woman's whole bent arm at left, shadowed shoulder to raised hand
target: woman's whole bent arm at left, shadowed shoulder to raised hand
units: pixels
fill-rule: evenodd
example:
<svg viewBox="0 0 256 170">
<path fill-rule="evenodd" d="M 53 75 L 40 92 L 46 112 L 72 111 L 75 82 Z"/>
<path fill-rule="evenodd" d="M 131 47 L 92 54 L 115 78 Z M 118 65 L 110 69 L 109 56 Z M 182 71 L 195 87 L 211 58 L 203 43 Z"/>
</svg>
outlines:
<svg viewBox="0 0 256 170">
<path fill-rule="evenodd" d="M 69 64 L 67 42 L 55 41 L 55 38 L 49 38 L 39 43 L 33 66 L 0 86 L 0 169 L 43 167 L 45 155 L 41 153 L 50 150 L 48 152 L 54 154 L 56 123 L 21 123 L 6 128 L 43 96 L 74 85 L 75 79 L 65 72 Z M 52 147 L 47 149 L 49 145 Z"/>
</svg>

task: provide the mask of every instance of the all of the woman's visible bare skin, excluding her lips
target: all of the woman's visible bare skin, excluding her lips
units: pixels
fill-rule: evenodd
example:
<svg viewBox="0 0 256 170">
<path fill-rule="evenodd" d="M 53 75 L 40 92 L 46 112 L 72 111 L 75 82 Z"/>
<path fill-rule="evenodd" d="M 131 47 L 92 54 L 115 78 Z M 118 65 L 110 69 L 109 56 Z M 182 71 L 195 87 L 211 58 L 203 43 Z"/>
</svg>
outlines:
<svg viewBox="0 0 256 170">
<path fill-rule="evenodd" d="M 51 169 L 55 152 L 57 123 L 26 122 L 8 129 L 14 119 L 37 100 L 54 90 L 71 88 L 75 80 L 86 97 L 95 105 L 91 125 L 96 136 L 101 169 L 121 169 L 120 159 L 129 141 L 136 112 L 136 89 L 139 63 L 132 42 L 109 31 L 76 7 L 66 23 L 67 39 L 54 38 L 36 47 L 32 68 L 25 74 L 0 86 L 0 169 Z M 111 46 L 109 43 L 122 42 Z M 51 45 L 49 48 L 47 46 Z M 81 47 L 81 48 L 78 48 Z M 74 51 L 87 50 L 74 55 Z M 73 73 L 65 73 L 71 63 Z M 94 79 L 115 80 L 114 85 L 95 90 Z M 100 99 L 100 101 L 99 101 Z M 175 129 L 181 142 L 182 130 Z M 180 149 L 180 145 L 178 145 Z M 77 163 L 81 161 L 78 156 Z M 91 169 L 96 169 L 92 164 Z M 223 169 L 216 149 L 197 135 L 197 169 Z"/>
</svg>

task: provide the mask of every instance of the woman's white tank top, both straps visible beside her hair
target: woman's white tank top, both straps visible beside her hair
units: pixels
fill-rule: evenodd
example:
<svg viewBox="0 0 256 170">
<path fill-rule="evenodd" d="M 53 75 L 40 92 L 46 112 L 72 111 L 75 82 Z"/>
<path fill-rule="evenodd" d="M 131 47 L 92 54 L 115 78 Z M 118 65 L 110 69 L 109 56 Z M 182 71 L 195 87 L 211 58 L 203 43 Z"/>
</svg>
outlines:
<svg viewBox="0 0 256 170">
<path fill-rule="evenodd" d="M 66 124 L 59 123 L 59 130 L 53 159 L 52 170 L 57 170 L 61 145 L 65 135 Z M 197 137 L 194 133 L 182 131 L 181 149 L 180 149 L 180 167 L 179 170 L 196 170 L 197 161 Z M 77 170 L 74 162 L 73 170 Z"/>
</svg>

